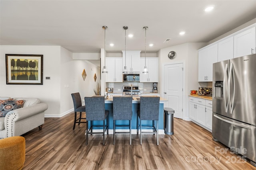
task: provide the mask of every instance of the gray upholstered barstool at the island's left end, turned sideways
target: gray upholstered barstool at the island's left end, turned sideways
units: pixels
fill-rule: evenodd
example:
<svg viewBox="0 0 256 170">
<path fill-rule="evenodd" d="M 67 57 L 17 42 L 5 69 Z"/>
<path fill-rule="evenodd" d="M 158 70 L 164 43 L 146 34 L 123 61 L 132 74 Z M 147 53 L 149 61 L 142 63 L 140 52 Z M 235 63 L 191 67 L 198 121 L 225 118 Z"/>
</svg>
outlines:
<svg viewBox="0 0 256 170">
<path fill-rule="evenodd" d="M 86 121 L 81 121 L 81 119 L 86 119 L 86 118 L 82 118 L 82 112 L 85 112 L 85 106 L 82 106 L 80 93 L 72 93 L 71 96 L 73 99 L 74 112 L 75 112 L 74 126 L 73 126 L 73 130 L 74 130 L 76 127 L 76 123 L 78 123 L 78 125 L 80 125 L 80 123 L 86 123 Z M 76 118 L 76 112 L 80 112 L 79 118 Z"/>
</svg>

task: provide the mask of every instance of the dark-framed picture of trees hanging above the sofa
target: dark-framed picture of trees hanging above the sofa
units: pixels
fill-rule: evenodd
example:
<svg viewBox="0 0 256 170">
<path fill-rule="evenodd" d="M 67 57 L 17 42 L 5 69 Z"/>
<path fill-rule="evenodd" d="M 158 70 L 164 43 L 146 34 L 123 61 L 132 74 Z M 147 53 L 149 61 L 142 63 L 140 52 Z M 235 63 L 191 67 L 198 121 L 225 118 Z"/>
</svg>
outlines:
<svg viewBox="0 0 256 170">
<path fill-rule="evenodd" d="M 43 84 L 43 55 L 6 54 L 6 84 Z"/>
</svg>

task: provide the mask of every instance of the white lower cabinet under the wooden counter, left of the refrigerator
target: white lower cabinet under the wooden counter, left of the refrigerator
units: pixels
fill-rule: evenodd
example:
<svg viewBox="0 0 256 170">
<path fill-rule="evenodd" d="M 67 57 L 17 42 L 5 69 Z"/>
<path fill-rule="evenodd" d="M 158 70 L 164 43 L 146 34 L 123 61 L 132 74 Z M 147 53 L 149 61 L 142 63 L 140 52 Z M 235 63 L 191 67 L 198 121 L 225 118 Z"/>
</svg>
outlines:
<svg viewBox="0 0 256 170">
<path fill-rule="evenodd" d="M 212 101 L 189 97 L 189 117 L 198 125 L 212 131 Z"/>
</svg>

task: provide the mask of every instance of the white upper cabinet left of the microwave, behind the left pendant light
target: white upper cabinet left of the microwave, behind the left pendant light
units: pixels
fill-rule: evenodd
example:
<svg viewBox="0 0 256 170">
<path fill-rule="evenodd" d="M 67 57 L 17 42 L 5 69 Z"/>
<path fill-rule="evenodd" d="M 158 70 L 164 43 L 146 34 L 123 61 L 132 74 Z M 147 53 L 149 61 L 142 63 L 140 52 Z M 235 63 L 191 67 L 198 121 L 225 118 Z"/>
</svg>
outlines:
<svg viewBox="0 0 256 170">
<path fill-rule="evenodd" d="M 106 67 L 108 69 L 108 73 L 106 74 L 106 82 L 123 82 L 122 58 L 106 57 Z"/>
</svg>

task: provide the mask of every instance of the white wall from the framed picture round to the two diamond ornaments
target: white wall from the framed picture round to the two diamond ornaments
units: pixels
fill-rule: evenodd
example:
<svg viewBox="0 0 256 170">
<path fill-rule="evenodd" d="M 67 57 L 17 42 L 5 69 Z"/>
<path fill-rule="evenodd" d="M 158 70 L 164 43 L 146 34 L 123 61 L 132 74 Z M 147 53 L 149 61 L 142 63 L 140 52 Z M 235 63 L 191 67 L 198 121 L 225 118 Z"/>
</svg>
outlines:
<svg viewBox="0 0 256 170">
<path fill-rule="evenodd" d="M 43 57 L 43 85 L 6 84 L 5 54 L 38 54 Z M 85 81 L 82 71 L 86 70 Z M 94 74 L 97 79 L 94 82 Z M 46 80 L 45 77 L 50 77 Z M 74 109 L 71 93 L 81 98 L 94 95 L 100 82 L 100 68 L 86 61 L 72 60 L 72 53 L 60 46 L 0 46 L 0 96 L 39 98 L 48 104 L 45 117 L 61 117 Z M 65 88 L 66 87 L 66 88 Z"/>
</svg>

